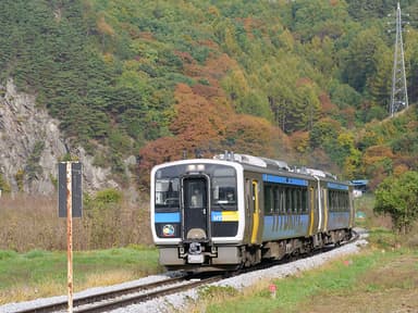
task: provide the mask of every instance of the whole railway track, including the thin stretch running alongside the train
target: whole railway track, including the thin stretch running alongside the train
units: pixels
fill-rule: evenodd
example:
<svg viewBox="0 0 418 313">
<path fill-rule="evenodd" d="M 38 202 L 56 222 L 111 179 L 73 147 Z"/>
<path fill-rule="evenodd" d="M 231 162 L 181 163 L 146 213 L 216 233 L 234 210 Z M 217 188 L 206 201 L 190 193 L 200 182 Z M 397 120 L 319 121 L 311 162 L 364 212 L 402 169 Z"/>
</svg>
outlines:
<svg viewBox="0 0 418 313">
<path fill-rule="evenodd" d="M 353 236 L 349 240 L 341 242 L 341 245 L 347 245 L 356 241 L 359 238 L 359 234 L 353 231 Z M 312 254 L 319 254 L 329 250 L 332 250 L 335 247 L 324 247 L 323 249 L 314 251 Z M 295 258 L 291 258 L 287 260 L 280 260 L 274 262 L 268 262 L 267 264 L 259 264 L 258 266 L 246 268 L 244 271 L 237 271 L 233 273 L 229 273 L 230 276 L 236 276 L 243 273 L 248 273 L 253 271 L 259 271 L 267 267 L 280 265 L 283 263 L 296 261 L 298 259 L 303 259 L 309 256 L 297 255 Z M 195 276 L 198 277 L 198 276 Z M 156 299 L 162 296 L 168 296 L 181 291 L 185 291 L 192 288 L 196 288 L 206 284 L 211 284 L 214 281 L 219 281 L 225 278 L 225 275 L 217 275 L 209 277 L 199 277 L 198 279 L 193 279 L 194 276 L 180 276 L 175 278 L 163 279 L 146 285 L 139 285 L 134 287 L 122 288 L 118 290 L 111 290 L 107 292 L 101 292 L 97 295 L 78 297 L 74 299 L 73 302 L 73 312 L 108 312 L 110 310 L 120 309 L 123 306 L 127 306 L 131 304 L 137 304 L 140 302 L 145 302 L 151 299 Z M 56 302 L 52 304 L 30 308 L 26 310 L 16 311 L 16 313 L 39 313 L 39 312 L 66 312 L 67 302 Z"/>
</svg>

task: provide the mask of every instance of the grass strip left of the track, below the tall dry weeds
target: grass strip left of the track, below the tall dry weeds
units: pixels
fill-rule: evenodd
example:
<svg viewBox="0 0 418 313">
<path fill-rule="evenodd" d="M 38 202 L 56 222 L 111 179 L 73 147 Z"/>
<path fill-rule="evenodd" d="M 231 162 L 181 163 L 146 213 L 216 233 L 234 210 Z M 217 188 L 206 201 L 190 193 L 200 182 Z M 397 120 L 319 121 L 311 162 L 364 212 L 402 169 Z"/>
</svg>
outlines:
<svg viewBox="0 0 418 313">
<path fill-rule="evenodd" d="M 155 248 L 74 252 L 74 291 L 160 273 Z M 66 252 L 0 250 L 0 304 L 66 295 Z"/>
</svg>

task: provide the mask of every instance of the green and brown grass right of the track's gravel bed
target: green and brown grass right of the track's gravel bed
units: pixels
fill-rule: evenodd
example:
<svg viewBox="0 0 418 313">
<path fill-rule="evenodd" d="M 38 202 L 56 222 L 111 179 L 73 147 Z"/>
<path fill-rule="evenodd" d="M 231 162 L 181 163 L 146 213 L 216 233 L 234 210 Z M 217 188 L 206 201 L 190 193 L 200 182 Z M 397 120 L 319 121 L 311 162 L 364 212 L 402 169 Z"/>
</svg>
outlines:
<svg viewBox="0 0 418 313">
<path fill-rule="evenodd" d="M 319 313 L 418 308 L 417 251 L 373 249 L 346 261 L 336 260 L 284 279 L 265 280 L 242 292 L 214 287 L 210 292 L 201 292 L 199 301 L 188 311 Z M 275 298 L 269 291 L 271 284 L 276 286 Z M 399 297 L 394 299 L 393 295 Z M 369 301 L 373 306 L 368 306 Z"/>
</svg>

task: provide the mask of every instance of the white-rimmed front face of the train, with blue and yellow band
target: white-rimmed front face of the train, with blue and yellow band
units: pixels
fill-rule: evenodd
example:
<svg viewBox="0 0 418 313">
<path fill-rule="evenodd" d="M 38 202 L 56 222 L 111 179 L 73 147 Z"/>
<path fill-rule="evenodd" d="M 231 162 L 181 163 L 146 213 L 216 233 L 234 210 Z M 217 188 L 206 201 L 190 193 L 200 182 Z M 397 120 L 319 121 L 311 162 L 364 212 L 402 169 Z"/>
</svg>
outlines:
<svg viewBox="0 0 418 313">
<path fill-rule="evenodd" d="M 184 160 L 151 171 L 151 229 L 168 270 L 231 270 L 241 264 L 243 167 Z"/>
</svg>

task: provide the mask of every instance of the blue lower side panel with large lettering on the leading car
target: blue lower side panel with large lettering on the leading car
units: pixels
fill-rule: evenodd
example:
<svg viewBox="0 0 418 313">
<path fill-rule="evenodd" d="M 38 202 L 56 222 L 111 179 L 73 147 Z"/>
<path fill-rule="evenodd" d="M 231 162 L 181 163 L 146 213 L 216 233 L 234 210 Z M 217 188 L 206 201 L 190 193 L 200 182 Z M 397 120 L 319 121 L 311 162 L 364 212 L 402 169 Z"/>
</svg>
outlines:
<svg viewBox="0 0 418 313">
<path fill-rule="evenodd" d="M 265 216 L 262 240 L 299 237 L 308 234 L 309 215 Z"/>
</svg>

